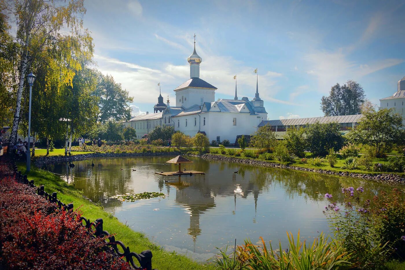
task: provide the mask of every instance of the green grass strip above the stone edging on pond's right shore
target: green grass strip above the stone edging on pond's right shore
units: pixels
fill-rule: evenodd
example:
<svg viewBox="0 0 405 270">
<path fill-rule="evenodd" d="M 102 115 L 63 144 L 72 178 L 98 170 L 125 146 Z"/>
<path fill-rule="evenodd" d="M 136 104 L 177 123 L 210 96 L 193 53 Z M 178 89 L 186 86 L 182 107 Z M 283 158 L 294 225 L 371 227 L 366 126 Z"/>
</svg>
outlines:
<svg viewBox="0 0 405 270">
<path fill-rule="evenodd" d="M 232 156 L 228 153 L 228 148 L 226 148 L 225 151 L 226 151 L 226 154 L 220 154 L 220 153 L 210 153 L 210 154 L 228 156 L 228 157 L 232 157 L 232 158 L 263 160 L 263 161 L 268 161 L 268 162 L 272 162 L 272 163 L 277 163 L 280 165 L 290 165 L 290 166 L 315 169 L 315 170 L 323 169 L 323 170 L 329 170 L 329 171 L 335 171 L 335 172 L 363 173 L 363 174 L 373 174 L 373 175 L 377 175 L 377 174 L 381 174 L 381 173 L 393 173 L 395 175 L 400 175 L 401 177 L 405 176 L 405 173 L 399 173 L 399 172 L 367 171 L 367 170 L 363 169 L 362 166 L 357 169 L 353 169 L 353 170 L 341 169 L 341 167 L 344 165 L 345 158 L 342 158 L 339 154 L 337 155 L 337 162 L 336 162 L 335 166 L 330 167 L 330 165 L 326 161 L 323 162 L 320 166 L 313 166 L 309 163 L 301 163 L 300 162 L 301 158 L 296 159 L 292 162 L 281 162 L 274 157 L 274 154 L 268 155 L 268 157 L 272 157 L 272 158 L 265 159 L 264 156 L 262 156 L 262 155 L 259 155 L 258 158 L 247 157 L 247 156 L 244 156 L 244 154 L 241 154 L 241 156 Z M 237 151 L 240 151 L 240 150 L 237 150 Z M 252 150 L 250 150 L 250 151 L 252 151 Z M 306 158 L 311 158 L 311 156 L 310 156 L 311 153 L 306 153 L 306 155 L 307 155 Z M 373 163 L 375 163 L 375 162 L 380 162 L 382 164 L 385 164 L 388 162 L 388 158 L 374 158 Z"/>
</svg>

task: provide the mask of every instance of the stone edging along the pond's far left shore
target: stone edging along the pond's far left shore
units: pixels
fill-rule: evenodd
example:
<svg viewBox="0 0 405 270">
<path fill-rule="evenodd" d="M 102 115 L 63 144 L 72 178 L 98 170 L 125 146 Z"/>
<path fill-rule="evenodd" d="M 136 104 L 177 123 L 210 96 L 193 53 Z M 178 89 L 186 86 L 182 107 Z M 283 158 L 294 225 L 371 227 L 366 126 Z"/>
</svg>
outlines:
<svg viewBox="0 0 405 270">
<path fill-rule="evenodd" d="M 145 152 L 145 153 L 89 153 L 79 154 L 72 156 L 41 156 L 35 160 L 35 165 L 40 168 L 44 164 L 66 162 L 72 160 L 79 160 L 84 158 L 105 158 L 105 157 L 117 157 L 117 156 L 173 156 L 180 155 L 180 152 Z"/>
</svg>

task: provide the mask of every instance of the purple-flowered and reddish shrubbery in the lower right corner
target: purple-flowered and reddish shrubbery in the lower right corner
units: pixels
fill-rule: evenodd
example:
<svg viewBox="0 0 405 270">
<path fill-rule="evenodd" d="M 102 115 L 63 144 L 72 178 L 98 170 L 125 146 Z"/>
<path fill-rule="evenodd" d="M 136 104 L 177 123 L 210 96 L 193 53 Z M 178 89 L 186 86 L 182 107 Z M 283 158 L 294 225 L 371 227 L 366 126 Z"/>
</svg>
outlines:
<svg viewBox="0 0 405 270">
<path fill-rule="evenodd" d="M 325 215 L 334 230 L 336 240 L 352 254 L 357 269 L 382 269 L 384 262 L 395 252 L 396 257 L 405 251 L 405 204 L 403 194 L 380 192 L 373 200 L 360 199 L 364 188 L 342 188 L 345 195 L 344 211 L 325 194 L 330 203 Z"/>
</svg>

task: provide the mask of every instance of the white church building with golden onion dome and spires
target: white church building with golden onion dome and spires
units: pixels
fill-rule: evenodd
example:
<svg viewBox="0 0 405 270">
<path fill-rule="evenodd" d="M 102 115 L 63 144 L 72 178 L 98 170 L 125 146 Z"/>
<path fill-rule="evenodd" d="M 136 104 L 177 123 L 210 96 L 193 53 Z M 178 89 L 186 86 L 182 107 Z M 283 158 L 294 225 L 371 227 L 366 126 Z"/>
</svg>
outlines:
<svg viewBox="0 0 405 270">
<path fill-rule="evenodd" d="M 267 120 L 263 100 L 259 97 L 256 78 L 256 94 L 252 100 L 247 97 L 238 99 L 235 85 L 234 99 L 215 100 L 217 88 L 200 78 L 201 57 L 194 52 L 187 59 L 190 63 L 190 79 L 174 89 L 176 105 L 171 107 L 169 100 L 163 103 L 160 94 L 154 113 L 135 116 L 127 122 L 141 138 L 157 126 L 171 125 L 176 131 L 194 136 L 197 133 L 207 135 L 210 141 L 222 142 L 228 139 L 236 141 L 237 135 L 254 133 L 260 122 Z"/>
</svg>

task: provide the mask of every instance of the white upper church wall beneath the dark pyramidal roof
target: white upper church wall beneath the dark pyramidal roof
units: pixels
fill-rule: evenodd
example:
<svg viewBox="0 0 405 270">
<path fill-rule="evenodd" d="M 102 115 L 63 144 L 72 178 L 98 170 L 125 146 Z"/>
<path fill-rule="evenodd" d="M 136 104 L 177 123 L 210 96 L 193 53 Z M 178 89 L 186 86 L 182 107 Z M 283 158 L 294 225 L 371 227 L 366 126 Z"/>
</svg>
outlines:
<svg viewBox="0 0 405 270">
<path fill-rule="evenodd" d="M 203 102 L 213 102 L 215 91 L 213 89 L 186 88 L 176 91 L 176 107 L 189 108 L 192 105 L 201 105 Z"/>
</svg>

